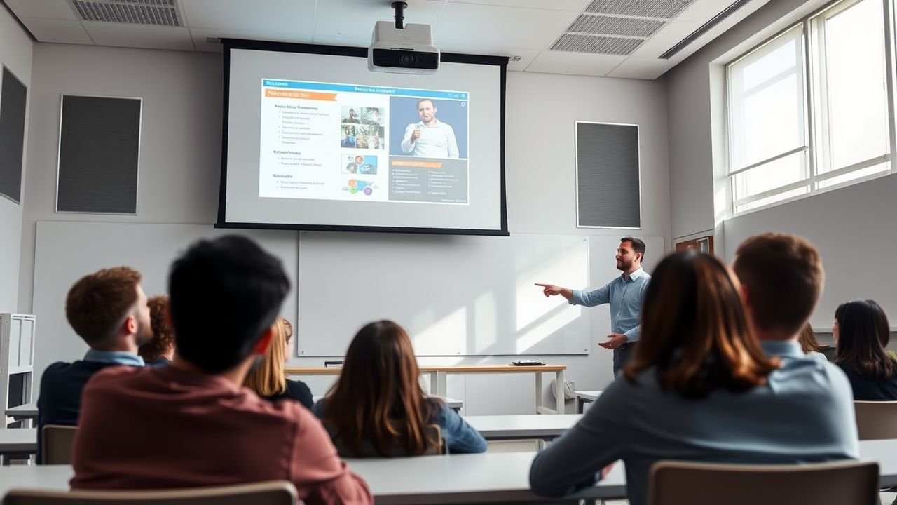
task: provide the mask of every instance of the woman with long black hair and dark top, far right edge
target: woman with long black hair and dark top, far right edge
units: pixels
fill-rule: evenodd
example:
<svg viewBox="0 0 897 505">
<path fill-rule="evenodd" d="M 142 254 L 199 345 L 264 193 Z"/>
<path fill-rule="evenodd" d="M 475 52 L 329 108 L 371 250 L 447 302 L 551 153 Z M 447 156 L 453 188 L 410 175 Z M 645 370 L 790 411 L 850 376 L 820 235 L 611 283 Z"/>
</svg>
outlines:
<svg viewBox="0 0 897 505">
<path fill-rule="evenodd" d="M 897 401 L 897 360 L 884 347 L 891 340 L 888 317 L 872 300 L 855 300 L 835 310 L 832 327 L 838 365 L 853 388 L 853 399 Z"/>
</svg>

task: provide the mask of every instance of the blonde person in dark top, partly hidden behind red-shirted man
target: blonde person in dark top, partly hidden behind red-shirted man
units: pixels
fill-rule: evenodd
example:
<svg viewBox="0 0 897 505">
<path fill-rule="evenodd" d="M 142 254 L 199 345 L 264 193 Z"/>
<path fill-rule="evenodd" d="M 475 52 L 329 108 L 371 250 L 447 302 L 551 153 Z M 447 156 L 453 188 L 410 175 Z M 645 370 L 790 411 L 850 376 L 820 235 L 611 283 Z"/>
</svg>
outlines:
<svg viewBox="0 0 897 505">
<path fill-rule="evenodd" d="M 312 399 L 309 386 L 300 380 L 286 378 L 283 372 L 283 364 L 289 359 L 292 349 L 290 337 L 292 337 L 292 324 L 283 317 L 278 317 L 274 322 L 274 335 L 265 358 L 249 372 L 243 385 L 266 400 L 290 398 L 310 409 L 315 401 Z"/>
</svg>

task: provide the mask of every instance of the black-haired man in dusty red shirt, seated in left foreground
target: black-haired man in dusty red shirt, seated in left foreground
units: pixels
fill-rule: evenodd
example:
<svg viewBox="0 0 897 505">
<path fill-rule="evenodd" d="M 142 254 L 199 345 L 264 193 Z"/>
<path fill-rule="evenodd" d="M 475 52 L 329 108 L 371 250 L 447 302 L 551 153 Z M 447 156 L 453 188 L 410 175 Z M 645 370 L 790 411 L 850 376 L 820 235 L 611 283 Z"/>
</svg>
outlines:
<svg viewBox="0 0 897 505">
<path fill-rule="evenodd" d="M 281 262 L 248 238 L 190 246 L 169 277 L 175 358 L 167 367 L 109 368 L 91 379 L 74 439 L 72 487 L 280 479 L 309 504 L 372 503 L 311 412 L 242 387 L 271 343 L 289 289 Z"/>
</svg>

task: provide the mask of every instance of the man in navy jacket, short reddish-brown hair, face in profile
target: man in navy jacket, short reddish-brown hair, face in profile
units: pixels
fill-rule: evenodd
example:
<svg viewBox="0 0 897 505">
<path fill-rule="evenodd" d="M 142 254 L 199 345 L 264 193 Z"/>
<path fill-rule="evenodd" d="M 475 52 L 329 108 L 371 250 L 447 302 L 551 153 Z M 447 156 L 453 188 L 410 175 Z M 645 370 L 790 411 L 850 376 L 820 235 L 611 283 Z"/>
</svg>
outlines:
<svg viewBox="0 0 897 505">
<path fill-rule="evenodd" d="M 65 318 L 91 350 L 84 359 L 57 361 L 44 370 L 38 397 L 38 432 L 47 424 L 78 423 L 84 385 L 100 369 L 144 366 L 137 348 L 152 339 L 152 329 L 140 279 L 137 270 L 117 267 L 86 275 L 68 290 Z"/>
</svg>

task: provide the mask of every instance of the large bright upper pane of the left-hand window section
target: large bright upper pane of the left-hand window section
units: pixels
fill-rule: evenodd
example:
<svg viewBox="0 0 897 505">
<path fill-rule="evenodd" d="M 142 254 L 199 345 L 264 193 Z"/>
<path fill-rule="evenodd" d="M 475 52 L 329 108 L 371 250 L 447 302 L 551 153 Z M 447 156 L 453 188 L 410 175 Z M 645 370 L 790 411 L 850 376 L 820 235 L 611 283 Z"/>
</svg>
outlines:
<svg viewBox="0 0 897 505">
<path fill-rule="evenodd" d="M 806 145 L 800 27 L 736 61 L 728 75 L 731 170 Z"/>
</svg>

